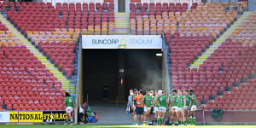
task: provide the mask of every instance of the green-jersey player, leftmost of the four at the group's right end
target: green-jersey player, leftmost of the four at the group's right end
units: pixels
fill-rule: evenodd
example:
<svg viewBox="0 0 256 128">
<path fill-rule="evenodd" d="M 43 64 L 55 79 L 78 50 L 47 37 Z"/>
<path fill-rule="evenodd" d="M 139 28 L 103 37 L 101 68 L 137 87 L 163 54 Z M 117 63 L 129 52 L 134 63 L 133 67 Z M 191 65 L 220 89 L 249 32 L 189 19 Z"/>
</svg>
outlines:
<svg viewBox="0 0 256 128">
<path fill-rule="evenodd" d="M 171 106 L 172 116 L 170 121 L 172 121 L 173 125 L 178 124 L 178 110 L 179 108 L 177 107 L 177 90 L 172 90 L 172 106 Z"/>
</svg>

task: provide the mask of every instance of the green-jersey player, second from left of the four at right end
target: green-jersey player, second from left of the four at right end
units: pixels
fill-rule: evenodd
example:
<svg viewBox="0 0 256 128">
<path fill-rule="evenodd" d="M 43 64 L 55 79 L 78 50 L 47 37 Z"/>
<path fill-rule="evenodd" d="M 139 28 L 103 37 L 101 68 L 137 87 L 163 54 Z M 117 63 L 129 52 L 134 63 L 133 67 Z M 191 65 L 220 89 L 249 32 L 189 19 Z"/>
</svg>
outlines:
<svg viewBox="0 0 256 128">
<path fill-rule="evenodd" d="M 185 123 L 185 116 L 184 116 L 184 110 L 186 106 L 186 97 L 183 96 L 183 90 L 178 90 L 177 92 L 177 107 L 179 108 L 179 120 L 180 120 L 180 125 L 184 125 Z"/>
</svg>

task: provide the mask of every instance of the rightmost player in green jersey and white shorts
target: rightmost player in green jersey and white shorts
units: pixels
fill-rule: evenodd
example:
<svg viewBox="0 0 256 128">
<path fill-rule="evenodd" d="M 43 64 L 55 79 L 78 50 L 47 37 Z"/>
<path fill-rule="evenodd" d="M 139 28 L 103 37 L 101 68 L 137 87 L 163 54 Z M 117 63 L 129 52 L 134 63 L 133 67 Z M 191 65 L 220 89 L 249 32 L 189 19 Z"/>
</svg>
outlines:
<svg viewBox="0 0 256 128">
<path fill-rule="evenodd" d="M 190 108 L 190 125 L 195 125 L 195 110 L 196 110 L 196 96 L 193 94 L 193 90 L 189 90 L 189 108 Z"/>
</svg>

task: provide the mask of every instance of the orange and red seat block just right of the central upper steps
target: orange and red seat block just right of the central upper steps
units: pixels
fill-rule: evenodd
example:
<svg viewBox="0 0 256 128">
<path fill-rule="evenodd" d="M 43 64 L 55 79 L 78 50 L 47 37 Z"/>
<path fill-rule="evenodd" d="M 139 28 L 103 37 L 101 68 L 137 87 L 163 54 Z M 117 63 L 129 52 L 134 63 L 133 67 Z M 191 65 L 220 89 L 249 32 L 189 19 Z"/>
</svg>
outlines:
<svg viewBox="0 0 256 128">
<path fill-rule="evenodd" d="M 156 3 L 156 7 L 154 7 L 154 3 L 149 3 L 149 9 L 148 3 L 143 3 L 143 6 L 141 6 L 141 4 L 142 3 L 130 4 L 131 34 L 159 35 L 164 32 L 176 32 L 177 22 L 182 19 L 182 16 L 185 15 L 186 12 L 189 12 L 186 11 L 188 8 L 187 3 L 183 3 L 183 6 L 186 7 L 183 8 L 183 11 L 169 11 L 167 9 L 169 8 L 167 3 L 163 3 L 163 7 L 161 7 L 160 3 Z M 177 3 L 177 5 L 179 4 Z M 197 3 L 194 3 L 194 5 L 196 7 Z"/>
</svg>

